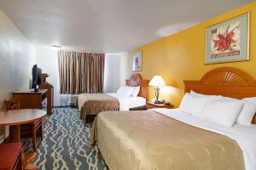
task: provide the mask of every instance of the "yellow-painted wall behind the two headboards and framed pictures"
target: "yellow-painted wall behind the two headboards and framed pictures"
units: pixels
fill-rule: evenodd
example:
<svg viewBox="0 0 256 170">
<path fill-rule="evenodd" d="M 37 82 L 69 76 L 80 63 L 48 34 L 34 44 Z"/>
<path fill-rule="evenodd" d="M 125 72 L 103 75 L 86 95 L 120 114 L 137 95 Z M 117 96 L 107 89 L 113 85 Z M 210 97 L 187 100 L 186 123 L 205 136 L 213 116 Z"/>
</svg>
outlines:
<svg viewBox="0 0 256 170">
<path fill-rule="evenodd" d="M 250 61 L 204 65 L 206 27 L 249 11 L 251 12 Z M 149 80 L 154 75 L 161 75 L 166 83 L 174 88 L 161 88 L 160 97 L 171 101 L 176 107 L 183 97 L 183 80 L 200 80 L 207 71 L 213 68 L 237 67 L 247 71 L 256 79 L 256 2 L 247 3 L 245 6 L 221 14 L 197 26 L 132 50 L 129 53 L 128 68 L 131 68 L 131 54 L 140 50 L 143 51 L 143 71 L 138 73 Z M 149 99 L 152 98 L 154 98 L 153 87 L 149 88 Z"/>
</svg>

